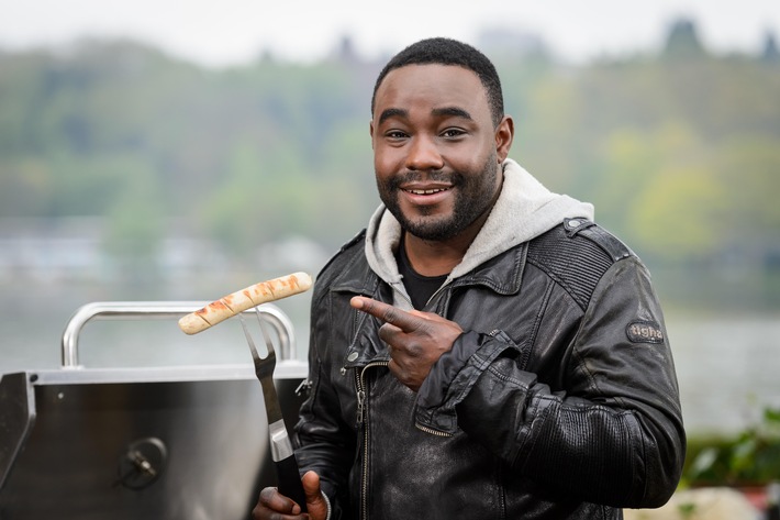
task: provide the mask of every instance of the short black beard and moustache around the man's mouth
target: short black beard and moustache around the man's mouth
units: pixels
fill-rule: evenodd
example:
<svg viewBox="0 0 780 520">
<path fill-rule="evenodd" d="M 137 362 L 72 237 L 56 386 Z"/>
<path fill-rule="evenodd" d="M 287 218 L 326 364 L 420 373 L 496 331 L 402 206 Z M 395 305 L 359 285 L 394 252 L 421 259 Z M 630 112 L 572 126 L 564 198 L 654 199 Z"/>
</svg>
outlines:
<svg viewBox="0 0 780 520">
<path fill-rule="evenodd" d="M 454 239 L 493 206 L 495 193 L 497 167 L 495 151 L 484 162 L 479 172 L 408 172 L 385 181 L 377 177 L 379 198 L 399 221 L 401 228 L 422 240 L 446 241 Z M 417 207 L 417 214 L 404 214 L 399 202 L 400 186 L 423 176 L 431 180 L 447 181 L 455 190 L 450 214 L 434 215 L 435 207 Z"/>
</svg>

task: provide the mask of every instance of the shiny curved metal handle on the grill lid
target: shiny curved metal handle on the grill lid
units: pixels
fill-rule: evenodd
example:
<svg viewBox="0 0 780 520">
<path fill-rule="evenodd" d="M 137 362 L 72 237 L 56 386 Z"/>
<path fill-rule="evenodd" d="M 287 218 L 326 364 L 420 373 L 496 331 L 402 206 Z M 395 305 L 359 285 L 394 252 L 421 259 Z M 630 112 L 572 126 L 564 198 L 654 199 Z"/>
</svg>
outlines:
<svg viewBox="0 0 780 520">
<path fill-rule="evenodd" d="M 94 320 L 167 320 L 181 318 L 209 305 L 208 301 L 96 301 L 79 307 L 63 332 L 63 368 L 80 368 L 78 341 L 81 330 Z M 279 338 L 279 357 L 296 357 L 296 338 L 292 322 L 274 303 L 258 307 L 263 319 Z M 255 312 L 252 308 L 245 312 Z"/>
</svg>

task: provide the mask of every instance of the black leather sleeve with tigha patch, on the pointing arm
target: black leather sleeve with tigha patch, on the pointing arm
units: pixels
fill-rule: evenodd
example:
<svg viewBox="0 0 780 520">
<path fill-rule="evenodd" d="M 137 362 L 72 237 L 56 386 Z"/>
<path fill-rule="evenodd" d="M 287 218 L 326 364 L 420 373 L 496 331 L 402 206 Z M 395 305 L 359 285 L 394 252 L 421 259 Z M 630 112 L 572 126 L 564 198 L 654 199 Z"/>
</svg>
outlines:
<svg viewBox="0 0 780 520">
<path fill-rule="evenodd" d="M 573 341 L 544 345 L 564 365 L 555 390 L 522 362 L 527 348 L 555 335 L 559 313 L 549 314 L 532 345 L 516 345 L 501 331 L 463 334 L 421 387 L 417 421 L 447 430 L 455 418 L 548 493 L 613 507 L 665 504 L 679 482 L 686 441 L 649 274 L 633 255 L 616 262 Z"/>
</svg>

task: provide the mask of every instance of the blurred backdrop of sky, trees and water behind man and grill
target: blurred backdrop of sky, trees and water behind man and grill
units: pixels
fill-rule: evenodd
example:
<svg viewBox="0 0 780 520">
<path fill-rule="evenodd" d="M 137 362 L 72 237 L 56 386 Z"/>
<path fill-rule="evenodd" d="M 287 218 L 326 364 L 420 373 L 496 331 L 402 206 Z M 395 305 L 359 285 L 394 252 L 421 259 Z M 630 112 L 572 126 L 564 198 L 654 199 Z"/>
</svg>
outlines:
<svg viewBox="0 0 780 520">
<path fill-rule="evenodd" d="M 0 373 L 58 367 L 91 301 L 316 274 L 378 203 L 377 73 L 444 35 L 495 63 L 512 156 L 649 266 L 689 431 L 780 406 L 780 4 L 472 3 L 0 0 Z M 80 359 L 248 363 L 221 329 L 96 322 Z"/>
</svg>

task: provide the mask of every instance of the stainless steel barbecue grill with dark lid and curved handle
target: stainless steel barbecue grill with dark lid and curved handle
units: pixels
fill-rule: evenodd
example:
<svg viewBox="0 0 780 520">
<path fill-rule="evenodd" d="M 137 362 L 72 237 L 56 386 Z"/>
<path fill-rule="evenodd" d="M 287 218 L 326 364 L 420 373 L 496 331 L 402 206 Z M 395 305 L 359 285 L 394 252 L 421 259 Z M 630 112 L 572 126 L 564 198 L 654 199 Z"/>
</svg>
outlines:
<svg viewBox="0 0 780 520">
<path fill-rule="evenodd" d="M 93 320 L 179 318 L 203 302 L 96 302 L 74 314 L 58 369 L 0 378 L 0 519 L 247 519 L 276 485 L 252 364 L 87 368 L 78 339 Z M 252 310 L 254 312 L 254 309 Z M 288 428 L 307 376 L 293 328 L 278 336 L 275 384 Z"/>
</svg>

